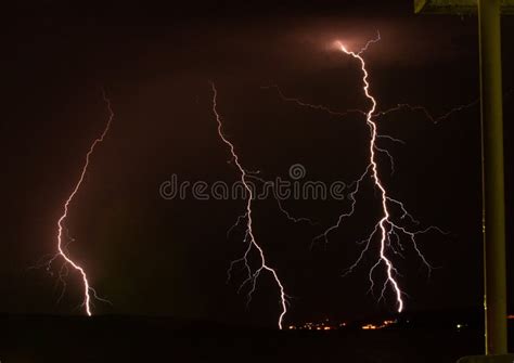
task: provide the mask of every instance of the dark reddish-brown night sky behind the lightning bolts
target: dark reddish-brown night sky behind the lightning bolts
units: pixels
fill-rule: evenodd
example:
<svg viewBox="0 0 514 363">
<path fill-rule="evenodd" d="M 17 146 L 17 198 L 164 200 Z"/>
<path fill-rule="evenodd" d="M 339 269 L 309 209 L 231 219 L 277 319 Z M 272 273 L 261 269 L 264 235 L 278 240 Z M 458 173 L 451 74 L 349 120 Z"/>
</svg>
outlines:
<svg viewBox="0 0 514 363">
<path fill-rule="evenodd" d="M 358 50 L 380 30 L 382 40 L 364 53 L 380 109 L 410 103 L 439 116 L 478 98 L 476 17 L 414 15 L 411 1 L 47 0 L 8 5 L 2 24 L 0 312 L 5 313 L 82 314 L 78 274 L 70 270 L 57 301 L 62 260 L 55 261 L 53 275 L 41 262 L 55 252 L 63 203 L 107 120 L 102 89 L 115 118 L 66 220 L 75 238 L 70 255 L 112 302 L 97 302 L 94 313 L 259 326 L 274 326 L 280 312 L 270 276 L 259 277 L 248 309 L 244 291 L 237 294 L 242 271 L 235 269 L 227 283 L 230 262 L 245 248 L 243 229 L 227 238 L 244 200 L 159 196 L 159 185 L 174 173 L 191 182 L 239 179 L 217 134 L 209 81 L 216 82 L 224 132 L 242 164 L 269 180 L 286 179 L 288 168 L 301 164 L 308 180 L 351 182 L 368 164 L 362 116 L 299 107 L 264 88 L 279 85 L 286 95 L 339 112 L 367 107 L 359 64 L 331 49 L 334 40 Z M 502 37 L 509 242 L 513 18 L 503 18 Z M 388 159 L 378 159 L 389 193 L 422 226 L 449 232 L 420 236 L 426 258 L 437 267 L 429 278 L 408 243 L 406 258 L 395 258 L 409 295 L 407 310 L 479 308 L 478 106 L 437 125 L 420 112 L 394 113 L 377 124 L 382 133 L 406 142 L 381 144 L 395 157 L 394 174 Z M 394 311 L 390 290 L 381 302 L 368 294 L 376 249 L 342 277 L 359 256 L 356 242 L 369 235 L 380 216 L 370 182 L 359 196 L 355 216 L 330 235 L 330 243 L 312 246 L 312 238 L 347 210 L 347 199 L 283 202 L 292 215 L 319 222 L 313 226 L 288 221 L 273 199 L 255 203 L 254 232 L 291 296 L 286 323 Z M 513 284 L 510 278 L 511 291 Z M 512 312 L 512 294 L 510 301 Z"/>
</svg>

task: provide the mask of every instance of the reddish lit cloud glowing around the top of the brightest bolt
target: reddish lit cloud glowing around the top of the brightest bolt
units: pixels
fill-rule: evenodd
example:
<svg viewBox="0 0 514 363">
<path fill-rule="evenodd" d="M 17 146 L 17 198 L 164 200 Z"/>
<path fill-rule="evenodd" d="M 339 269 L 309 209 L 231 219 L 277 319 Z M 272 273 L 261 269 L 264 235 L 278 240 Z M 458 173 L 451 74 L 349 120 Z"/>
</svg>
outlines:
<svg viewBox="0 0 514 363">
<path fill-rule="evenodd" d="M 317 59 L 314 66 L 322 67 L 334 66 L 334 62 L 340 61 L 327 54 L 323 56 L 323 52 L 334 52 L 334 40 L 358 51 L 378 31 L 382 41 L 368 52 L 372 54 L 374 64 L 423 66 L 455 60 L 457 55 L 462 56 L 462 51 L 472 52 L 468 46 L 476 42 L 475 27 L 476 18 L 472 17 L 455 22 L 455 18 L 413 14 L 398 14 L 396 17 L 327 16 L 300 23 L 295 29 L 290 29 L 287 37 L 310 49 L 317 55 L 313 56 Z"/>
</svg>

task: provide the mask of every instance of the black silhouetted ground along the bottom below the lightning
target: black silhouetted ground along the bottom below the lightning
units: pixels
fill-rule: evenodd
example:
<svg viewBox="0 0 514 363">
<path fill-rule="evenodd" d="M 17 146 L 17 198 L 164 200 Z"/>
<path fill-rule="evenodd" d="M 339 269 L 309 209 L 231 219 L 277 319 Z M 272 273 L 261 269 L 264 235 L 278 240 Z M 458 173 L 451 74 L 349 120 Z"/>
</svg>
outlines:
<svg viewBox="0 0 514 363">
<path fill-rule="evenodd" d="M 444 363 L 481 353 L 484 341 L 478 328 L 459 332 L 425 326 L 374 332 L 280 332 L 117 315 L 89 319 L 3 315 L 0 326 L 2 363 Z"/>
</svg>

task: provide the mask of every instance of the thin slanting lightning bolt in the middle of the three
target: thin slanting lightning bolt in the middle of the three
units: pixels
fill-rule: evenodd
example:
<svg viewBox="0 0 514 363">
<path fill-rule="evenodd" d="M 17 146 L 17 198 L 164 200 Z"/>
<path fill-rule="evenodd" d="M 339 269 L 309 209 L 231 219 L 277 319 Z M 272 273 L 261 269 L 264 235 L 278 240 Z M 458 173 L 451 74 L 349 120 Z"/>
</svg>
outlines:
<svg viewBox="0 0 514 363">
<path fill-rule="evenodd" d="M 269 272 L 272 275 L 272 277 L 274 278 L 274 282 L 275 282 L 277 286 L 279 287 L 279 290 L 280 290 L 280 306 L 281 306 L 282 310 L 281 310 L 281 313 L 279 315 L 278 325 L 279 325 L 279 328 L 282 329 L 283 319 L 284 319 L 284 315 L 287 312 L 287 295 L 285 294 L 284 286 L 283 286 L 282 282 L 280 281 L 279 275 L 277 274 L 277 271 L 267 264 L 266 257 L 265 257 L 265 251 L 255 238 L 254 230 L 253 230 L 253 219 L 252 219 L 252 202 L 254 199 L 254 194 L 253 194 L 252 187 L 248 185 L 248 181 L 247 181 L 248 172 L 241 165 L 240 158 L 239 158 L 237 154 L 235 153 L 234 145 L 223 134 L 222 118 L 221 118 L 220 114 L 218 113 L 218 108 L 217 108 L 218 107 L 218 105 L 217 105 L 218 91 L 217 91 L 216 85 L 214 82 L 210 82 L 210 86 L 211 86 L 211 89 L 213 89 L 213 113 L 216 117 L 216 121 L 218 122 L 218 135 L 221 139 L 221 141 L 224 144 L 227 144 L 227 146 L 229 146 L 231 158 L 234 161 L 234 165 L 236 166 L 236 168 L 237 168 L 237 170 L 241 174 L 241 182 L 243 183 L 244 187 L 246 189 L 246 192 L 248 193 L 247 194 L 248 198 L 246 200 L 246 211 L 243 216 L 241 216 L 239 218 L 239 220 L 241 220 L 241 219 L 246 220 L 246 231 L 245 231 L 244 242 L 247 243 L 247 246 L 246 246 L 246 250 L 245 250 L 243 257 L 237 259 L 237 260 L 232 261 L 232 263 L 230 265 L 230 269 L 229 269 L 229 277 L 230 277 L 230 271 L 232 270 L 232 268 L 236 263 L 243 263 L 244 264 L 245 270 L 247 272 L 247 277 L 243 282 L 243 284 L 240 286 L 240 290 L 245 285 L 247 285 L 247 284 L 250 285 L 250 289 L 248 291 L 248 303 L 249 303 L 249 301 L 252 300 L 252 295 L 255 291 L 256 284 L 257 284 L 257 278 L 259 276 L 259 274 L 262 271 Z M 254 249 L 257 250 L 258 257 L 260 259 L 260 265 L 256 270 L 253 270 L 252 267 L 249 265 L 249 262 L 248 262 L 248 257 L 249 257 L 252 250 L 254 250 Z"/>
</svg>

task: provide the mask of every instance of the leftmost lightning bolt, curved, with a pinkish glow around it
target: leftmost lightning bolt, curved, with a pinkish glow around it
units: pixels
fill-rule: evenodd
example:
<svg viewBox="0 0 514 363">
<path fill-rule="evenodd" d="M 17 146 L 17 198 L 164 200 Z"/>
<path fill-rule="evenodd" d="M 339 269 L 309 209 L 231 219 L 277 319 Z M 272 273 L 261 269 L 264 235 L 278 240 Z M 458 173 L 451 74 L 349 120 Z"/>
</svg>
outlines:
<svg viewBox="0 0 514 363">
<path fill-rule="evenodd" d="M 60 275 L 59 275 L 59 278 L 60 281 L 63 283 L 63 286 L 65 287 L 66 284 L 65 284 L 65 281 L 64 281 L 64 276 L 63 276 L 63 273 L 64 275 L 67 275 L 68 274 L 68 265 L 72 267 L 73 269 L 76 270 L 76 272 L 79 273 L 80 277 L 82 278 L 82 284 L 83 284 L 83 299 L 82 299 L 82 303 L 81 306 L 85 308 L 86 310 L 86 313 L 88 314 L 88 316 L 91 316 L 91 296 L 94 297 L 95 299 L 98 300 L 102 300 L 102 301 L 105 301 L 105 302 L 108 302 L 107 300 L 104 300 L 104 299 L 101 299 L 98 297 L 97 295 L 97 291 L 90 286 L 89 284 L 89 281 L 88 281 L 88 275 L 86 273 L 86 270 L 80 265 L 78 264 L 78 262 L 75 262 L 72 257 L 69 256 L 69 252 L 67 251 L 67 248 L 66 248 L 66 245 L 63 243 L 63 234 L 64 233 L 67 233 L 67 230 L 65 229 L 65 221 L 66 221 L 66 218 L 68 217 L 68 209 L 69 209 L 69 205 L 72 204 L 75 195 L 78 193 L 79 189 L 80 189 L 80 185 L 82 184 L 83 182 L 83 179 L 86 177 L 86 173 L 88 171 L 88 167 L 89 167 L 89 159 L 91 157 L 91 155 L 93 154 L 95 147 L 98 144 L 100 144 L 104 139 L 105 139 L 105 135 L 107 134 L 110 128 L 111 128 L 111 122 L 114 118 L 114 112 L 111 107 L 111 101 L 107 99 L 105 92 L 103 92 L 103 100 L 107 106 L 107 111 L 108 111 L 108 118 L 107 118 L 107 124 L 102 132 L 102 134 L 97 138 L 91 146 L 89 147 L 89 151 L 88 153 L 86 154 L 86 158 L 85 158 L 85 163 L 82 165 L 82 169 L 80 171 L 80 176 L 79 176 L 79 179 L 77 181 L 77 183 L 75 184 L 72 193 L 69 194 L 68 198 L 66 199 L 66 202 L 64 203 L 64 210 L 63 210 L 63 215 L 61 216 L 61 218 L 59 218 L 57 220 L 57 236 L 56 236 L 56 239 L 57 239 L 57 252 L 56 255 L 54 255 L 54 257 L 48 262 L 48 270 L 50 269 L 52 262 L 56 259 L 56 258 L 63 258 L 64 259 L 64 264 L 63 267 L 61 268 L 61 271 L 60 271 Z M 66 231 L 66 232 L 65 232 Z M 73 238 L 72 238 L 73 241 Z M 63 294 L 64 294 L 64 290 L 63 290 Z M 62 295 L 61 295 L 62 297 Z"/>
</svg>

